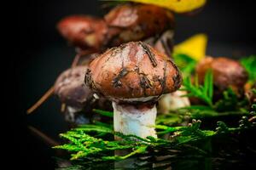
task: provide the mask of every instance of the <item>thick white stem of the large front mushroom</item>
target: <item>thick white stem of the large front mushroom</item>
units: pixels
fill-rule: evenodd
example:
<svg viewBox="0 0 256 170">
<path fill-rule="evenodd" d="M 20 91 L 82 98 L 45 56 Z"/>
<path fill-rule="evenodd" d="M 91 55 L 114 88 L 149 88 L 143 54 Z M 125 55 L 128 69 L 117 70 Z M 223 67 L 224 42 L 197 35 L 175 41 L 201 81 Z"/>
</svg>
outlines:
<svg viewBox="0 0 256 170">
<path fill-rule="evenodd" d="M 135 134 L 141 138 L 153 136 L 157 138 L 154 130 L 157 110 L 155 105 L 151 108 L 138 109 L 134 105 L 113 105 L 113 127 L 115 132 Z"/>
</svg>

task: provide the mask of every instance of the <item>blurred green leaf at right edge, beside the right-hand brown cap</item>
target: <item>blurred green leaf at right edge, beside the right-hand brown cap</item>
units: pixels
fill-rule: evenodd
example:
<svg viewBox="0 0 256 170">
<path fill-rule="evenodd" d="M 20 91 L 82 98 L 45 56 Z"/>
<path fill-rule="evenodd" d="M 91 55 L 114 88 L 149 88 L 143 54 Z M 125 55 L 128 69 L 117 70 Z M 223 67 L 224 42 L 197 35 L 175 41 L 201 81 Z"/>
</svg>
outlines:
<svg viewBox="0 0 256 170">
<path fill-rule="evenodd" d="M 240 62 L 249 75 L 249 82 L 256 82 L 256 55 L 241 58 Z"/>
</svg>

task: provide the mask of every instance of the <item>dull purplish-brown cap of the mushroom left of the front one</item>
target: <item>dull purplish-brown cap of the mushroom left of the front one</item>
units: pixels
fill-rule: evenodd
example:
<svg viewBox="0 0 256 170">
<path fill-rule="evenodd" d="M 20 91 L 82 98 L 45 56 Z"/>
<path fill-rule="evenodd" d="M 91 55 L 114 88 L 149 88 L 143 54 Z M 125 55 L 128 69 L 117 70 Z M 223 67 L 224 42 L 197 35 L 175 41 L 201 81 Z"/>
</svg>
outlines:
<svg viewBox="0 0 256 170">
<path fill-rule="evenodd" d="M 55 94 L 62 103 L 75 108 L 83 108 L 90 102 L 93 92 L 84 85 L 84 74 L 87 66 L 77 66 L 61 73 L 55 82 Z"/>
</svg>

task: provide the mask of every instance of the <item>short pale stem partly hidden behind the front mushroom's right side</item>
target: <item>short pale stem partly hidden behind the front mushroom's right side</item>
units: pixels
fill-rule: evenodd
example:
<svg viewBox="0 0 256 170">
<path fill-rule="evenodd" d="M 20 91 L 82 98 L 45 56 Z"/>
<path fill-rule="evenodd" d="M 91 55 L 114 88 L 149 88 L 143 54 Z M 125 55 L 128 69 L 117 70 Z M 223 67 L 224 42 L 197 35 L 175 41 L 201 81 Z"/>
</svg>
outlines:
<svg viewBox="0 0 256 170">
<path fill-rule="evenodd" d="M 158 101 L 159 112 L 162 114 L 167 114 L 169 111 L 189 106 L 189 98 L 183 97 L 185 94 L 185 91 L 176 91 L 172 94 L 163 94 Z"/>
</svg>

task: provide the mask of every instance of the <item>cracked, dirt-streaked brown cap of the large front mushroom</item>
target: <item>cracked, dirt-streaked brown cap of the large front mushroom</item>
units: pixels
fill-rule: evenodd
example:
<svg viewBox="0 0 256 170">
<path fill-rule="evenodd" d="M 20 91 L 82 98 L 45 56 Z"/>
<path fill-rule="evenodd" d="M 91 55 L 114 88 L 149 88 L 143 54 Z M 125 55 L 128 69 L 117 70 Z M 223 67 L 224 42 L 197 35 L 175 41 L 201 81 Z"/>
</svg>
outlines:
<svg viewBox="0 0 256 170">
<path fill-rule="evenodd" d="M 84 82 L 108 99 L 150 101 L 180 88 L 182 76 L 165 54 L 143 42 L 128 42 L 94 59 Z"/>
</svg>

